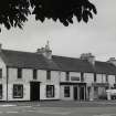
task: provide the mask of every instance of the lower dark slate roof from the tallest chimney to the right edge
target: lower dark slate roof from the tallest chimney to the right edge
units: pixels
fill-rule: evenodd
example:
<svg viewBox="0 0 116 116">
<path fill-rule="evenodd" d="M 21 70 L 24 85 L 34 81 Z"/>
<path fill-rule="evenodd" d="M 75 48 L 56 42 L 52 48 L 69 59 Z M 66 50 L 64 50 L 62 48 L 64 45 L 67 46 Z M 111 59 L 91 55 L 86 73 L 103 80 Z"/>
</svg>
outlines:
<svg viewBox="0 0 116 116">
<path fill-rule="evenodd" d="M 62 71 L 99 73 L 99 74 L 116 74 L 116 66 L 107 62 L 95 61 L 93 66 L 85 60 L 56 56 L 53 55 L 53 61 L 60 66 Z"/>
</svg>

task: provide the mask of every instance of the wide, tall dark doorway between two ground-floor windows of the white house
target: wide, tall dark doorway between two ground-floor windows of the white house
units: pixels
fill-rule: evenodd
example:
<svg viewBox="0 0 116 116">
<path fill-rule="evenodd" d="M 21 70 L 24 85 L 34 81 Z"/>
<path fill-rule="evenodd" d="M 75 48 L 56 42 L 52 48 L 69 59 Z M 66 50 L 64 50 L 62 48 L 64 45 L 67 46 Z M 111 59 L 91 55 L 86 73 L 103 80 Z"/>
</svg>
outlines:
<svg viewBox="0 0 116 116">
<path fill-rule="evenodd" d="M 40 82 L 30 83 L 30 99 L 40 101 Z"/>
</svg>

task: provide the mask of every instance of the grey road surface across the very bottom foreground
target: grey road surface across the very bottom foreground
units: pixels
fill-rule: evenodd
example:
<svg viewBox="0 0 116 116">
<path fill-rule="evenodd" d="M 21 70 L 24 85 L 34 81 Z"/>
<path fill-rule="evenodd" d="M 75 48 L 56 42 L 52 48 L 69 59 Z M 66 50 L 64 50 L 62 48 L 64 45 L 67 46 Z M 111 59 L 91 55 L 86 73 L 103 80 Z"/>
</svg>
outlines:
<svg viewBox="0 0 116 116">
<path fill-rule="evenodd" d="M 0 106 L 0 116 L 116 116 L 116 106 Z"/>
</svg>

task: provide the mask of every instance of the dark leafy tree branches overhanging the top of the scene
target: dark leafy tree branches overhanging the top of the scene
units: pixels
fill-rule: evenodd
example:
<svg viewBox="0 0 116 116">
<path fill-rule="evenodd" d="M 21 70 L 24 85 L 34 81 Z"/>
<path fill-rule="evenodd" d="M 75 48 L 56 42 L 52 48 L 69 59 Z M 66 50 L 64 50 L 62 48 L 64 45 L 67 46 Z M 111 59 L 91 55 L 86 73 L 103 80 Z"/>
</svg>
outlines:
<svg viewBox="0 0 116 116">
<path fill-rule="evenodd" d="M 45 18 L 60 20 L 65 27 L 77 21 L 88 22 L 96 14 L 95 6 L 88 0 L 2 0 L 0 1 L 0 25 L 8 30 L 19 27 L 22 29 L 29 14 L 43 22 Z"/>
</svg>

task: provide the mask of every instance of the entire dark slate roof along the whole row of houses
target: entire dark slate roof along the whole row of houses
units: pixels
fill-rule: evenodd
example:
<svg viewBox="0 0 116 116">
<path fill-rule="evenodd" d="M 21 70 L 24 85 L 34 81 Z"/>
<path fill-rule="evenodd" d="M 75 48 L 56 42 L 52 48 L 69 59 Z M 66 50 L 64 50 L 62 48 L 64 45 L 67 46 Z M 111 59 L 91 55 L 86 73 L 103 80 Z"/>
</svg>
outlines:
<svg viewBox="0 0 116 116">
<path fill-rule="evenodd" d="M 116 66 L 107 62 L 96 61 L 93 66 L 85 60 L 56 55 L 53 55 L 52 60 L 48 60 L 42 54 L 11 50 L 2 50 L 0 55 L 11 67 L 116 74 Z"/>
</svg>

